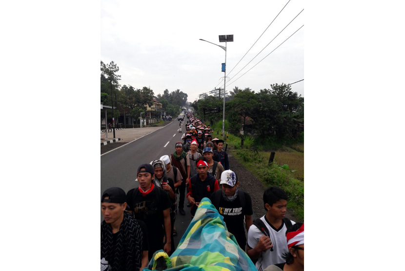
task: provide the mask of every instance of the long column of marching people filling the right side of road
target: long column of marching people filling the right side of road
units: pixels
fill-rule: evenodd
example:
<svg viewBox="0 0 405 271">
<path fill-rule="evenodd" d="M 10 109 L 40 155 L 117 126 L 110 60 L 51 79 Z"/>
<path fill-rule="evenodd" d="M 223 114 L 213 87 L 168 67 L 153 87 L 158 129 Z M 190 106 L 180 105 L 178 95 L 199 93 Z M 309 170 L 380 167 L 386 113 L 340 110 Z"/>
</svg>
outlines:
<svg viewBox="0 0 405 271">
<path fill-rule="evenodd" d="M 278 187 L 263 192 L 266 214 L 252 220 L 252 200 L 238 189 L 224 141 L 188 113 L 175 151 L 137 170 L 138 188 L 112 187 L 101 196 L 101 271 L 142 270 L 154 253 L 175 251 L 176 215 L 191 217 L 204 197 L 223 216 L 227 231 L 259 271 L 304 270 L 304 224 L 285 217 L 288 197 Z M 180 122 L 179 132 L 182 133 Z M 177 204 L 178 203 L 178 204 Z M 247 236 L 245 233 L 247 232 Z"/>
</svg>

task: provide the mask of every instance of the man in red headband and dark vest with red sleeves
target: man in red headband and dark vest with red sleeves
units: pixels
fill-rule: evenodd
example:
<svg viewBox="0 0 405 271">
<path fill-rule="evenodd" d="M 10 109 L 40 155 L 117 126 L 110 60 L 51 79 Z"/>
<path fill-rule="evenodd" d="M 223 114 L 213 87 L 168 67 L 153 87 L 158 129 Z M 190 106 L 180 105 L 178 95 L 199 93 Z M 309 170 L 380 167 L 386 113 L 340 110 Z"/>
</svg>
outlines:
<svg viewBox="0 0 405 271">
<path fill-rule="evenodd" d="M 209 166 L 205 158 L 199 158 L 196 162 L 198 174 L 190 179 L 187 194 L 187 199 L 191 203 L 192 217 L 200 201 L 204 197 L 210 198 L 212 193 L 220 189 L 218 180 L 208 173 Z"/>
</svg>

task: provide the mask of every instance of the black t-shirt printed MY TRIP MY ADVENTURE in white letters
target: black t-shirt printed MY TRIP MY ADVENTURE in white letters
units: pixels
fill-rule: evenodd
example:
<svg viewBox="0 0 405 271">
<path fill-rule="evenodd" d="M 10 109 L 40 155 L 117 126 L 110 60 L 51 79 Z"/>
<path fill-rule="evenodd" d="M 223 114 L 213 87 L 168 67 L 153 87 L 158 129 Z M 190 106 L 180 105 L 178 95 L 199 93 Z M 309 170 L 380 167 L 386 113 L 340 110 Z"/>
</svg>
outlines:
<svg viewBox="0 0 405 271">
<path fill-rule="evenodd" d="M 216 191 L 211 196 L 211 202 L 215 205 L 215 195 L 216 193 L 221 193 L 222 190 Z M 223 221 L 226 223 L 228 232 L 231 232 L 235 235 L 236 240 L 238 241 L 239 246 L 244 250 L 246 246 L 246 235 L 244 233 L 244 216 L 252 215 L 252 199 L 250 195 L 244 193 L 245 206 L 242 206 L 240 194 L 244 193 L 243 191 L 238 191 L 238 196 L 233 201 L 227 201 L 221 196 L 219 206 L 215 206 L 218 212 L 223 216 Z"/>
</svg>

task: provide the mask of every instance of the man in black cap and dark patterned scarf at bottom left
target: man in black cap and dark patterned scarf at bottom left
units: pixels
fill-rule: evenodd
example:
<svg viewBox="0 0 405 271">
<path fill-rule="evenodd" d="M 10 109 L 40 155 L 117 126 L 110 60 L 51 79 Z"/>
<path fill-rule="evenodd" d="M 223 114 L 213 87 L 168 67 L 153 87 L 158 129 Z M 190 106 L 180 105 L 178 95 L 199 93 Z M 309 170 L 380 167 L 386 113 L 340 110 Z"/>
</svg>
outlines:
<svg viewBox="0 0 405 271">
<path fill-rule="evenodd" d="M 139 222 L 125 212 L 126 207 L 121 188 L 112 187 L 102 194 L 101 270 L 140 271 L 148 264 L 146 236 Z"/>
</svg>

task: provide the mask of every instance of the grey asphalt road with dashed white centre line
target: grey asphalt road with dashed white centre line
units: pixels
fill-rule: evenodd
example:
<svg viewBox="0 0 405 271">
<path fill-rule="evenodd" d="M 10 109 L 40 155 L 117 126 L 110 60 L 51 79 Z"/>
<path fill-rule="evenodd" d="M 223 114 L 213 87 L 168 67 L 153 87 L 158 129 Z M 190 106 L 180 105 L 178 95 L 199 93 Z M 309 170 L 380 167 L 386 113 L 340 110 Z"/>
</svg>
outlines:
<svg viewBox="0 0 405 271">
<path fill-rule="evenodd" d="M 173 120 L 172 123 L 159 128 L 138 128 L 150 129 L 150 134 L 138 138 L 135 141 L 128 140 L 128 144 L 101 155 L 101 192 L 112 186 L 121 187 L 125 192 L 132 188 L 138 187 L 138 182 L 135 182 L 136 171 L 142 163 L 149 163 L 152 160 L 159 159 L 162 155 L 170 155 L 175 151 L 175 143 L 181 141 L 182 133 L 178 132 L 179 122 Z M 136 132 L 141 132 L 140 130 Z M 126 131 L 125 131 L 126 130 Z M 125 133 L 131 133 L 129 129 L 124 129 Z M 145 134 L 146 130 L 142 133 Z M 185 131 L 183 124 L 182 131 Z M 116 131 L 116 137 L 118 136 Z M 120 131 L 121 132 L 121 131 Z M 147 130 L 146 132 L 149 132 Z M 115 143 L 112 143 L 115 144 Z M 166 147 L 164 147 L 166 146 Z M 100 194 L 101 198 L 101 194 Z M 185 200 L 187 203 L 187 200 Z M 175 246 L 179 244 L 182 234 L 187 229 L 190 221 L 190 208 L 184 204 L 186 215 L 182 216 L 177 213 L 176 230 L 178 235 L 175 237 Z M 102 221 L 102 214 L 101 221 Z"/>
</svg>

